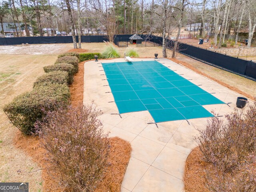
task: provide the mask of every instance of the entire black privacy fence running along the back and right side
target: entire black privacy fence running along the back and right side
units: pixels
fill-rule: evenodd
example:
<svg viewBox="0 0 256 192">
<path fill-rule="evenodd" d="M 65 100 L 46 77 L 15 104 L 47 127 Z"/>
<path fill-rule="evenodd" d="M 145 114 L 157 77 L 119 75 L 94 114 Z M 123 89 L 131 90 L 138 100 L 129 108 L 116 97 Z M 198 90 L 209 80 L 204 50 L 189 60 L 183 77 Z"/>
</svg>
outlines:
<svg viewBox="0 0 256 192">
<path fill-rule="evenodd" d="M 114 43 L 116 45 L 120 44 L 120 42 L 128 42 L 132 34 L 126 35 L 114 35 Z M 139 35 L 143 41 L 149 41 L 154 44 L 162 45 L 163 38 L 142 34 Z M 78 36 L 76 36 L 76 41 L 78 42 Z M 91 42 L 103 42 L 108 41 L 108 36 L 106 35 L 94 35 L 94 36 L 82 36 L 82 42 L 91 43 Z M 18 45 L 18 44 L 44 44 L 44 43 L 72 43 L 72 36 L 50 36 L 50 37 L 16 37 L 16 38 L 0 38 L 0 45 Z M 174 41 L 170 39 L 166 39 L 166 46 L 168 49 L 172 49 L 174 46 Z M 243 60 L 240 58 L 235 58 L 232 56 L 224 55 L 221 53 L 217 53 L 214 51 L 206 50 L 203 48 L 191 46 L 184 43 L 178 43 L 178 52 L 204 62 L 206 64 L 210 64 L 212 66 L 222 68 L 223 70 L 227 70 L 233 72 L 235 74 L 239 74 L 246 78 L 252 79 L 256 81 L 256 63 Z"/>
</svg>

